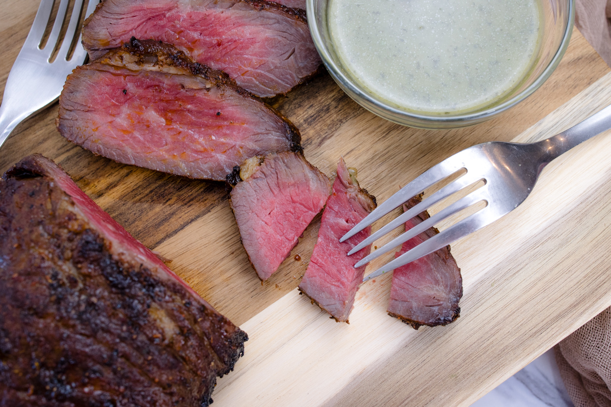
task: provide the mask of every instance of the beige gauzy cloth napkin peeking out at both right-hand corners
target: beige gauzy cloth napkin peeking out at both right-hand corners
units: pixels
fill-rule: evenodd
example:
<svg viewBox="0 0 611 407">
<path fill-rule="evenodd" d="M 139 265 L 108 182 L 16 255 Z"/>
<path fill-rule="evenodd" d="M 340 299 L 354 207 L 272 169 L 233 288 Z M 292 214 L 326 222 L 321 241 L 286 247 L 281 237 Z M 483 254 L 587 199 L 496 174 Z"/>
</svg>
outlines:
<svg viewBox="0 0 611 407">
<path fill-rule="evenodd" d="M 575 25 L 611 66 L 611 0 L 576 0 Z M 611 308 L 554 347 L 576 407 L 611 407 Z"/>
</svg>

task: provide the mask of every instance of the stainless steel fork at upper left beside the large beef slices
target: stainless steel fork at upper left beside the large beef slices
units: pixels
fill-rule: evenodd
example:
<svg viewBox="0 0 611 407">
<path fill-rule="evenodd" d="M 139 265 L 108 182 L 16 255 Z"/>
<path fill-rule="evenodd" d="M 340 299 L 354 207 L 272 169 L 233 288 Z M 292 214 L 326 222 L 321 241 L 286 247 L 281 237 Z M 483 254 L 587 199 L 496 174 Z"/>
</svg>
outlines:
<svg viewBox="0 0 611 407">
<path fill-rule="evenodd" d="M 69 0 L 60 1 L 44 48 L 40 48 L 40 43 L 53 10 L 54 0 L 42 0 L 38 6 L 34 24 L 13 63 L 4 88 L 0 106 L 0 146 L 17 124 L 57 100 L 68 74 L 85 61 L 87 53 L 82 48 L 80 37 L 72 57 L 68 59 L 82 12 L 83 0 L 76 0 L 57 57 L 53 62 L 49 62 L 59 45 L 57 40 L 64 25 L 68 2 Z M 86 16 L 93 12 L 96 5 L 97 1 L 89 0 Z"/>
</svg>

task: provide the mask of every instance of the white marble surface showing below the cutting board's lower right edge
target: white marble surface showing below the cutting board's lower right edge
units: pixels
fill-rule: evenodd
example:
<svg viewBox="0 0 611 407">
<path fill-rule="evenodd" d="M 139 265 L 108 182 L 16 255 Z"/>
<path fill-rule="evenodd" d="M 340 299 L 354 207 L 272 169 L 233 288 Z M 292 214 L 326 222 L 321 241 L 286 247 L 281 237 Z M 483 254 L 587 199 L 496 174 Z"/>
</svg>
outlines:
<svg viewBox="0 0 611 407">
<path fill-rule="evenodd" d="M 574 407 L 548 350 L 471 407 Z"/>
</svg>

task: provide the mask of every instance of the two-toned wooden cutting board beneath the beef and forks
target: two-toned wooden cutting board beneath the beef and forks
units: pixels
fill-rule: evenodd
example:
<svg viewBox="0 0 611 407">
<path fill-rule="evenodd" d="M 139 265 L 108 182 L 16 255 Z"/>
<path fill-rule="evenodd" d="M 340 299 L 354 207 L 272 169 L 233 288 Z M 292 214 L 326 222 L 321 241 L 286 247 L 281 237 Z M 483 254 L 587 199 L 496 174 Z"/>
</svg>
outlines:
<svg viewBox="0 0 611 407">
<path fill-rule="evenodd" d="M 3 90 L 38 1 L 0 4 Z M 312 164 L 332 176 L 343 156 L 359 168 L 361 185 L 383 201 L 463 148 L 543 139 L 610 103 L 609 68 L 574 31 L 540 90 L 470 128 L 425 131 L 384 121 L 351 101 L 327 74 L 274 104 L 301 129 Z M 516 211 L 452 246 L 463 273 L 461 317 L 447 327 L 415 331 L 386 315 L 388 275 L 362 286 L 350 325 L 333 322 L 298 295 L 320 216 L 262 284 L 241 246 L 224 185 L 93 156 L 56 132 L 56 114 L 54 105 L 18 126 L 1 149 L 0 170 L 31 153 L 56 160 L 241 325 L 251 337 L 246 356 L 219 380 L 216 407 L 466 406 L 611 306 L 609 135 L 560 157 Z"/>
</svg>

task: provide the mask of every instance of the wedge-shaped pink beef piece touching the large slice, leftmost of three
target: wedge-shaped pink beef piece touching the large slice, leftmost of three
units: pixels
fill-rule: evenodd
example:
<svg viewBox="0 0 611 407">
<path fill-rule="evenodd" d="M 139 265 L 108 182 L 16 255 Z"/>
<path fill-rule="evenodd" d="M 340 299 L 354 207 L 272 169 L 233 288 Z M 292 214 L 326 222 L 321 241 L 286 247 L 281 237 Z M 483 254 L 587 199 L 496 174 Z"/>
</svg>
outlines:
<svg viewBox="0 0 611 407">
<path fill-rule="evenodd" d="M 331 181 L 301 153 L 253 157 L 236 173 L 233 180 L 241 182 L 233 187 L 230 204 L 252 267 L 266 280 L 323 209 Z"/>
</svg>

